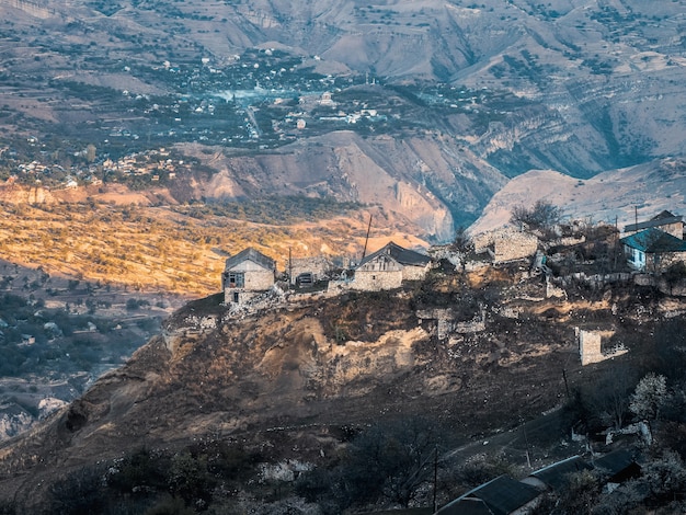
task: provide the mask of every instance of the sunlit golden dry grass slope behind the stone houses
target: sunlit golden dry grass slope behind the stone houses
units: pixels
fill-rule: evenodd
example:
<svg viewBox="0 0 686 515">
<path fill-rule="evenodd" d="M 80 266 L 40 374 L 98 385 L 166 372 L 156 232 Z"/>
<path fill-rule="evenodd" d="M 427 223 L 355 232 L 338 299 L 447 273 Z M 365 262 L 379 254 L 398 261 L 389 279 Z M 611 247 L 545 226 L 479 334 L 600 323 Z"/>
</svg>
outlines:
<svg viewBox="0 0 686 515">
<path fill-rule="evenodd" d="M 325 249 L 355 255 L 363 216 L 271 226 L 207 216 L 196 219 L 164 207 L 98 202 L 0 204 L 0 252 L 9 262 L 50 275 L 139 290 L 205 296 L 220 288 L 224 262 L 252 245 L 285 270 L 294 258 Z"/>
</svg>

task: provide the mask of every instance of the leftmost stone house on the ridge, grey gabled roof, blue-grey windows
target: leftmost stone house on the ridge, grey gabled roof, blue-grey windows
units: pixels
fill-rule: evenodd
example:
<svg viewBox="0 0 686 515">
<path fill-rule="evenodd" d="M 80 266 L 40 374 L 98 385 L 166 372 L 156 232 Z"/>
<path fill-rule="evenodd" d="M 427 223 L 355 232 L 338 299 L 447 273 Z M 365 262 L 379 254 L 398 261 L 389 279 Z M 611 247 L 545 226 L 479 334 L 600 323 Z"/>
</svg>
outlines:
<svg viewBox="0 0 686 515">
<path fill-rule="evenodd" d="M 226 260 L 221 289 L 226 304 L 242 304 L 267 291 L 276 279 L 276 262 L 255 249 L 248 248 Z"/>
</svg>

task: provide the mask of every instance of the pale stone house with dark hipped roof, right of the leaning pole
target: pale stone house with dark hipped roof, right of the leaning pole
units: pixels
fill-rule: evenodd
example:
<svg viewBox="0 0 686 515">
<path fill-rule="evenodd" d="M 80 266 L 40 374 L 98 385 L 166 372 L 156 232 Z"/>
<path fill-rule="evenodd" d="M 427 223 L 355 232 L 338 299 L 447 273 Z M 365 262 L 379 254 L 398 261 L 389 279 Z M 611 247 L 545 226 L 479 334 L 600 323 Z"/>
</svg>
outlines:
<svg viewBox="0 0 686 515">
<path fill-rule="evenodd" d="M 361 261 L 351 288 L 370 291 L 400 288 L 404 281 L 423 279 L 430 267 L 428 255 L 391 241 Z"/>
</svg>

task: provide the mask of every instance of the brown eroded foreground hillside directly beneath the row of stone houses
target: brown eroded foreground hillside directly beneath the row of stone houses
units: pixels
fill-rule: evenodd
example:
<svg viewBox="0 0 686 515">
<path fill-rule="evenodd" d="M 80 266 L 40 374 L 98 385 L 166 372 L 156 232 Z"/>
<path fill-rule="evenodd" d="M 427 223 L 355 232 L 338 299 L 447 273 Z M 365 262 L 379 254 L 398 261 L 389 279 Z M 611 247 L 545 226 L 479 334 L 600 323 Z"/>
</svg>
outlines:
<svg viewBox="0 0 686 515">
<path fill-rule="evenodd" d="M 398 416 L 481 442 L 559 405 L 565 377 L 568 388 L 593 381 L 602 366 L 581 367 L 574 327 L 611 329 L 640 362 L 654 324 L 681 309 L 622 287 L 536 301 L 545 285 L 521 276 L 485 268 L 471 287 L 444 276 L 413 291 L 294 296 L 240 319 L 220 296 L 191 302 L 124 367 L 2 446 L 0 499 L 37 513 L 57 479 L 144 447 L 241 442 L 268 462 L 329 456 L 332 432 Z"/>
</svg>

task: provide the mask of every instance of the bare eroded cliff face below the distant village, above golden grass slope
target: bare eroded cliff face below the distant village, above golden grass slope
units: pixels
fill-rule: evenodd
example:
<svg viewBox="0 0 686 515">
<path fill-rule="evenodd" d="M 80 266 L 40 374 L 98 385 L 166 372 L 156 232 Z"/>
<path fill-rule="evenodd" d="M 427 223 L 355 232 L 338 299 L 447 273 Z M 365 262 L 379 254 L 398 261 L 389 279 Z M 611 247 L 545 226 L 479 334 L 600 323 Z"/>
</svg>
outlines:
<svg viewBox="0 0 686 515">
<path fill-rule="evenodd" d="M 454 138 L 363 138 L 336 131 L 298 141 L 268 154 L 207 157 L 185 151 L 219 170 L 187 184 L 176 196 L 222 199 L 241 196 L 312 195 L 379 206 L 407 233 L 446 241 L 454 226 L 471 221 L 505 176 Z M 379 224 L 384 221 L 377 220 Z M 414 229 L 413 229 L 414 228 Z"/>
</svg>

